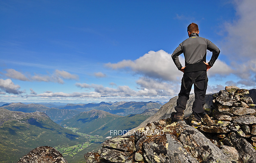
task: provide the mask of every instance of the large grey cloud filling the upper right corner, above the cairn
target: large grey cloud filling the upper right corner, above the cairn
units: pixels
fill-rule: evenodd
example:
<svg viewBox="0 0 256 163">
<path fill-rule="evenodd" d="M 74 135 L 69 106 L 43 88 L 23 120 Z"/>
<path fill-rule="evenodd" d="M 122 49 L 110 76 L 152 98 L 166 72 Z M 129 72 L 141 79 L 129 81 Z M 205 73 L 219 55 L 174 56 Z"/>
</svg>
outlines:
<svg viewBox="0 0 256 163">
<path fill-rule="evenodd" d="M 234 67 L 233 73 L 240 78 L 236 84 L 256 85 L 256 3 L 254 0 L 233 1 L 237 19 L 224 24 L 226 38 L 221 44 L 225 54 Z"/>
</svg>

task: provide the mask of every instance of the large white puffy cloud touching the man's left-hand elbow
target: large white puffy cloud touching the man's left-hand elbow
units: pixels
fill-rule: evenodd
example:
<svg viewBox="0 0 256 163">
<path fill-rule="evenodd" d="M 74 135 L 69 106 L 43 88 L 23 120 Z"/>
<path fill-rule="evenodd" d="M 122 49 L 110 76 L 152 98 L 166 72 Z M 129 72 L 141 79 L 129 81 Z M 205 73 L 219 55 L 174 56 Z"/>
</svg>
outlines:
<svg viewBox="0 0 256 163">
<path fill-rule="evenodd" d="M 184 60 L 182 55 L 180 55 L 179 58 L 181 62 Z M 147 54 L 144 54 L 136 60 L 123 60 L 118 63 L 107 63 L 106 66 L 112 69 L 128 68 L 133 72 L 145 75 L 146 77 L 167 81 L 178 81 L 182 77 L 182 72 L 178 71 L 173 63 L 171 55 L 163 50 L 157 52 L 149 51 Z"/>
</svg>

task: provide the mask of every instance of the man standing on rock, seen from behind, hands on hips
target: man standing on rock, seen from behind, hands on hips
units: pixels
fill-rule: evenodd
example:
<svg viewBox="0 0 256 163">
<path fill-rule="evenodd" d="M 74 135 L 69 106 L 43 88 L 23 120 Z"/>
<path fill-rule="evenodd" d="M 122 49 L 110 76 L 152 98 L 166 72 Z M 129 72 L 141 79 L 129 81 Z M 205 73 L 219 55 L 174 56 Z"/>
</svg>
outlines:
<svg viewBox="0 0 256 163">
<path fill-rule="evenodd" d="M 188 26 L 189 38 L 180 43 L 173 51 L 172 58 L 177 68 L 183 72 L 180 93 L 175 107 L 173 121 L 182 121 L 187 100 L 194 84 L 195 101 L 192 105 L 191 126 L 201 126 L 201 116 L 204 114 L 205 94 L 207 89 L 207 71 L 213 66 L 220 54 L 219 48 L 210 40 L 199 37 L 198 25 Z M 206 63 L 206 51 L 212 52 L 211 60 Z M 180 64 L 179 55 L 184 54 L 185 66 Z"/>
</svg>

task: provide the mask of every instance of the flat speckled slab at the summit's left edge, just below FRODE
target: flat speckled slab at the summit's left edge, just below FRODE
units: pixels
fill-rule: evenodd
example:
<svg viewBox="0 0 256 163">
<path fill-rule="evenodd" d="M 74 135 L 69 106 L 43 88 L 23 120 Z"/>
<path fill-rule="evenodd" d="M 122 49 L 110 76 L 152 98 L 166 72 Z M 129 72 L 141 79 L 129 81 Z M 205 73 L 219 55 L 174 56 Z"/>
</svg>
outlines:
<svg viewBox="0 0 256 163">
<path fill-rule="evenodd" d="M 114 137 L 102 143 L 102 148 L 117 149 L 126 152 L 134 152 L 136 150 L 134 136 L 130 137 Z"/>
</svg>

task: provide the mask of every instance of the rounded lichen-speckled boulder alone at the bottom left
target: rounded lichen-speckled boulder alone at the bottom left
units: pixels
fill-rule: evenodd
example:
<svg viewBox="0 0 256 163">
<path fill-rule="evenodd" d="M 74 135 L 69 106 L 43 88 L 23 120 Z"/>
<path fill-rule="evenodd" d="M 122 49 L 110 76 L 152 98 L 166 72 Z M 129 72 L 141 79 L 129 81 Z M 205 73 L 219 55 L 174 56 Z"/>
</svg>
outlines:
<svg viewBox="0 0 256 163">
<path fill-rule="evenodd" d="M 19 159 L 17 163 L 67 163 L 62 154 L 50 146 L 40 146 Z"/>
</svg>

